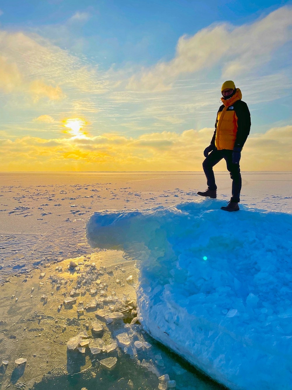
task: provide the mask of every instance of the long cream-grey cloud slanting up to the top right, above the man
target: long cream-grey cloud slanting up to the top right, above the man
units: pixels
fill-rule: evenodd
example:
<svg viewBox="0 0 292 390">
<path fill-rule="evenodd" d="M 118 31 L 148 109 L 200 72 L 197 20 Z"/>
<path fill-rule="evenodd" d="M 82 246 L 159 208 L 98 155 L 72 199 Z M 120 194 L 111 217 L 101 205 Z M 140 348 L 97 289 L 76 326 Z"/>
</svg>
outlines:
<svg viewBox="0 0 292 390">
<path fill-rule="evenodd" d="M 169 90 L 182 74 L 218 66 L 222 78 L 252 74 L 271 60 L 274 50 L 291 41 L 292 7 L 281 7 L 252 24 L 227 23 L 179 38 L 176 55 L 132 76 L 129 90 Z"/>
</svg>

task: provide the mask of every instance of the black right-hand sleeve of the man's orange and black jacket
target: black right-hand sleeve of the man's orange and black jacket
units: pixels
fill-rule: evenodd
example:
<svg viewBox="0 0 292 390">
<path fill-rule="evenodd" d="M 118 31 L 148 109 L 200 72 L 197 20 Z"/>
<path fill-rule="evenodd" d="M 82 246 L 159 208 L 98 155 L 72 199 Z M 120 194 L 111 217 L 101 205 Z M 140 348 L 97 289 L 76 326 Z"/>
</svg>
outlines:
<svg viewBox="0 0 292 390">
<path fill-rule="evenodd" d="M 242 100 L 234 103 L 234 110 L 237 116 L 237 133 L 234 147 L 242 148 L 250 133 L 250 111 L 247 104 Z"/>
</svg>

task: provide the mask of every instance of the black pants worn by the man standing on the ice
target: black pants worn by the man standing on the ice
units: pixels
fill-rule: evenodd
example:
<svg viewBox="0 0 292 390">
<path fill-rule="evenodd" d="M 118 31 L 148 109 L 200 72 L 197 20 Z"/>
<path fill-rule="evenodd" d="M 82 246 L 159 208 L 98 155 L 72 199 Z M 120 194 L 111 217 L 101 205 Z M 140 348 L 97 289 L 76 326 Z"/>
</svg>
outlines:
<svg viewBox="0 0 292 390">
<path fill-rule="evenodd" d="M 215 176 L 213 172 L 214 165 L 224 158 L 226 161 L 227 169 L 229 170 L 230 177 L 232 179 L 232 198 L 231 202 L 239 202 L 240 190 L 241 190 L 241 174 L 239 164 L 232 163 L 232 150 L 222 149 L 213 150 L 209 156 L 203 162 L 203 169 L 207 178 L 207 185 L 209 190 L 217 190 L 215 183 Z"/>
</svg>

